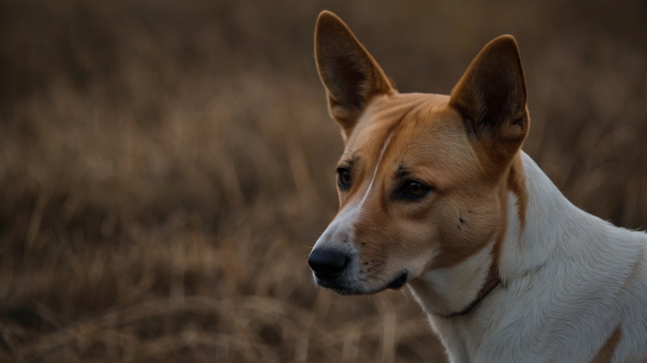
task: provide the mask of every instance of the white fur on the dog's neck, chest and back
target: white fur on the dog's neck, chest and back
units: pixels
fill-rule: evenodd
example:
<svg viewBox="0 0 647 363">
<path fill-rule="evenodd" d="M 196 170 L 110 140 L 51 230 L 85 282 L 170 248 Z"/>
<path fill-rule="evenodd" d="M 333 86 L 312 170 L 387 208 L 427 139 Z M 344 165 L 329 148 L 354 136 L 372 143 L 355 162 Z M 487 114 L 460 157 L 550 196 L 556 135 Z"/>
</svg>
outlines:
<svg viewBox="0 0 647 363">
<path fill-rule="evenodd" d="M 499 257 L 503 284 L 468 315 L 452 318 L 434 315 L 443 306 L 411 287 L 450 362 L 590 362 L 616 327 L 621 336 L 611 362 L 641 362 L 647 355 L 647 234 L 578 209 L 527 154 L 522 158 L 529 200 L 521 229 L 510 193 Z M 422 278 L 426 289 L 465 306 L 450 280 L 474 298 L 489 263 L 477 255 Z"/>
</svg>

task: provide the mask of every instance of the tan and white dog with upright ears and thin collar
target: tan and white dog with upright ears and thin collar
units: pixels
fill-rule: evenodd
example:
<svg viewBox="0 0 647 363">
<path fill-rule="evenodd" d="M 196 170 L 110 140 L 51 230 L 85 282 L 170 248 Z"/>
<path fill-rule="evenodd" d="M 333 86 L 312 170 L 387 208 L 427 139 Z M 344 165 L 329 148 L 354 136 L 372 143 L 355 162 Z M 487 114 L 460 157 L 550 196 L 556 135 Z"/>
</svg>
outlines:
<svg viewBox="0 0 647 363">
<path fill-rule="evenodd" d="M 578 209 L 521 150 L 514 37 L 449 96 L 397 92 L 331 12 L 314 52 L 344 140 L 340 209 L 308 260 L 317 285 L 407 285 L 452 363 L 646 361 L 647 234 Z"/>
</svg>

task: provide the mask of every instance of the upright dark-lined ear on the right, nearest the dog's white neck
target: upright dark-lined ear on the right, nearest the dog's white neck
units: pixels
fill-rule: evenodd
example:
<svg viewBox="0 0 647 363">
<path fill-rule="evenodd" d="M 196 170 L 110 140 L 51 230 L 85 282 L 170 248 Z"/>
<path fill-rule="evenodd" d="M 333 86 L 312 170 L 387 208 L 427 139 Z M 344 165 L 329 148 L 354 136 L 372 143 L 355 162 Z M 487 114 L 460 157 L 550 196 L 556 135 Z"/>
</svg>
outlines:
<svg viewBox="0 0 647 363">
<path fill-rule="evenodd" d="M 450 105 L 493 165 L 507 165 L 528 134 L 525 79 L 512 36 L 490 41 L 452 90 Z"/>
</svg>

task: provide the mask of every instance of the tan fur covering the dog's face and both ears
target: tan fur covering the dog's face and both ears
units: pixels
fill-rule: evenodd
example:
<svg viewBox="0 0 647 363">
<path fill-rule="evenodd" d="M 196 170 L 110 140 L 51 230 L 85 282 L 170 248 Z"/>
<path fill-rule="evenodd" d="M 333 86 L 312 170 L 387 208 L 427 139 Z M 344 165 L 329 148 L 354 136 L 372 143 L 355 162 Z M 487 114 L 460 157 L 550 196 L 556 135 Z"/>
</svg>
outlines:
<svg viewBox="0 0 647 363">
<path fill-rule="evenodd" d="M 525 110 L 523 71 L 514 39 L 499 37 L 485 47 L 448 97 L 397 93 L 347 26 L 329 12 L 320 15 L 315 38 L 317 65 L 329 95 L 331 114 L 340 123 L 345 137 L 344 156 L 338 165 L 352 167 L 355 181 L 349 191 L 340 192 L 340 211 L 362 198 L 380 148 L 389 135 L 393 135 L 393 140 L 388 150 L 398 150 L 386 153 L 375 180 L 380 188 L 371 192 L 365 202 L 371 213 L 364 214 L 355 223 L 355 240 L 365 264 L 377 269 L 378 265 L 397 264 L 395 260 L 439 250 L 433 265 L 426 267 L 450 267 L 483 249 L 493 237 L 501 240 L 506 226 L 507 191 L 518 195 L 520 215 L 525 214 L 527 200 L 516 151 L 527 133 L 529 117 Z M 507 52 L 503 60 L 499 59 L 501 50 Z M 341 60 L 344 57 L 351 60 Z M 502 65 L 497 66 L 497 63 Z M 504 71 L 506 63 L 518 65 L 518 74 Z M 343 67 L 362 70 L 366 78 L 344 78 L 352 72 L 340 70 Z M 331 74 L 335 71 L 339 79 L 333 81 Z M 482 82 L 482 78 L 494 77 L 490 73 L 494 76 L 505 74 L 503 78 L 516 82 L 522 94 L 521 103 L 504 105 L 514 108 L 509 112 L 499 107 L 497 117 L 500 120 L 490 121 L 493 125 L 479 125 L 476 121 L 485 122 L 483 112 L 487 111 L 492 97 L 474 94 L 475 85 Z M 360 93 L 361 105 L 366 107 L 360 106 L 360 112 L 339 113 L 336 111 L 339 105 L 353 105 L 356 100 L 335 88 L 353 81 L 369 84 L 366 88 L 369 91 Z M 353 85 L 344 87 L 354 89 Z M 468 104 L 475 98 L 481 100 Z M 348 108 L 344 107 L 344 111 Z M 479 119 L 466 125 L 465 112 Z M 511 125 L 520 117 L 523 118 L 521 127 Z M 408 158 L 402 160 L 402 155 Z M 504 167 L 501 167 L 501 160 Z M 416 180 L 433 186 L 433 195 L 427 202 L 406 205 L 388 195 L 397 187 L 395 183 L 399 181 L 393 178 L 400 166 L 409 169 Z M 398 240 L 408 243 L 393 244 Z M 429 241 L 437 241 L 440 245 L 430 245 Z M 493 253 L 497 251 L 495 247 Z M 496 256 L 494 260 L 493 270 L 496 269 Z"/>
</svg>

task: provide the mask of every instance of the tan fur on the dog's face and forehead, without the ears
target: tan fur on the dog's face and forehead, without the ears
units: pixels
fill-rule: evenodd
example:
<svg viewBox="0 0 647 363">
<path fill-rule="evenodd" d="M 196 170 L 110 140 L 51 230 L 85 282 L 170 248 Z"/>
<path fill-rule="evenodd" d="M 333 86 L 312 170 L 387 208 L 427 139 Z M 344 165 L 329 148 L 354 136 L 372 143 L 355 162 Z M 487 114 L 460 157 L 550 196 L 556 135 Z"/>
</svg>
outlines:
<svg viewBox="0 0 647 363">
<path fill-rule="evenodd" d="M 340 160 L 340 165 L 351 158 L 359 160 L 353 165 L 353 178 L 363 182 L 357 182 L 348 192 L 340 192 L 340 209 L 364 194 L 380 147 L 389 134 L 393 134 L 393 139 L 388 150 L 402 150 L 402 154 L 412 157 L 401 160 L 402 154 L 387 153 L 382 160 L 375 184 L 386 188 L 368 196 L 366 208 L 372 212 L 355 224 L 355 238 L 362 241 L 358 246 L 362 255 L 373 264 L 381 264 L 388 256 L 404 258 L 428 253 L 437 247 L 428 245 L 428 241 L 437 240 L 443 242 L 443 253 L 435 258 L 433 268 L 439 268 L 461 262 L 483 248 L 494 235 L 502 237 L 507 187 L 483 182 L 479 161 L 468 147 L 459 115 L 446 105 L 448 98 L 394 94 L 379 101 L 380 106 L 369 108 L 364 122 L 357 125 Z M 425 205 L 406 205 L 386 195 L 397 187 L 392 178 L 402 162 L 417 180 L 433 185 L 434 196 Z M 502 182 L 506 184 L 507 180 Z M 481 205 L 472 203 L 475 194 L 481 194 Z M 477 231 L 481 238 L 466 238 L 479 234 Z M 393 245 L 395 240 L 409 243 Z M 412 244 L 414 240 L 421 242 Z"/>
</svg>

